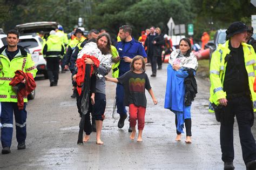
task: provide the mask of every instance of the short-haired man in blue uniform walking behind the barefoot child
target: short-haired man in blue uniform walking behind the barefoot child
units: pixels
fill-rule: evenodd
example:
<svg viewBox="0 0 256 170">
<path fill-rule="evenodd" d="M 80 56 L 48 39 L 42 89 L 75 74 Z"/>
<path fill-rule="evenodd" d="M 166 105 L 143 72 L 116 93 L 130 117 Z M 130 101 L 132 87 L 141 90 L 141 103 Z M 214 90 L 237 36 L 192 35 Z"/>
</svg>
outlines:
<svg viewBox="0 0 256 170">
<path fill-rule="evenodd" d="M 115 63 L 120 62 L 118 66 L 118 75 L 122 76 L 124 73 L 130 70 L 130 63 L 132 58 L 139 55 L 143 56 L 145 62 L 147 62 L 147 55 L 144 50 L 142 43 L 138 42 L 132 38 L 132 28 L 130 25 L 123 25 L 119 28 L 119 36 L 121 41 L 117 43 L 116 49 L 119 53 L 119 58 L 114 58 Z M 124 87 L 117 83 L 116 88 L 116 104 L 117 104 L 117 113 L 120 114 L 120 119 L 118 121 L 118 127 L 124 127 L 124 121 L 127 118 L 127 111 L 124 105 Z M 132 132 L 129 128 L 129 132 Z"/>
</svg>

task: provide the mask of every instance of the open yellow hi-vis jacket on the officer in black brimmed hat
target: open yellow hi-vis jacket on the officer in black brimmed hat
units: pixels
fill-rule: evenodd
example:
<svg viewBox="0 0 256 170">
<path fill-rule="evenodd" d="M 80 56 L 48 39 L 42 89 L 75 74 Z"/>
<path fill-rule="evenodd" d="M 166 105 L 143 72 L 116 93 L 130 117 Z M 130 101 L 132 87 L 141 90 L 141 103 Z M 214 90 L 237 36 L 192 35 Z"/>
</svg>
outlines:
<svg viewBox="0 0 256 170">
<path fill-rule="evenodd" d="M 225 44 L 218 46 L 212 54 L 211 64 L 210 64 L 210 80 L 211 80 L 211 89 L 210 89 L 210 105 L 209 111 L 214 112 L 212 103 L 219 105 L 219 99 L 226 98 L 226 92 L 223 91 L 223 84 L 225 78 L 225 71 L 227 62 L 225 63 L 225 57 L 230 53 L 228 49 L 227 40 Z M 256 74 L 256 55 L 253 47 L 249 44 L 242 43 L 242 50 L 244 51 L 245 57 L 245 68 L 248 73 L 249 87 L 251 91 L 251 100 L 254 112 L 256 111 L 256 93 L 253 90 L 253 83 Z"/>
</svg>

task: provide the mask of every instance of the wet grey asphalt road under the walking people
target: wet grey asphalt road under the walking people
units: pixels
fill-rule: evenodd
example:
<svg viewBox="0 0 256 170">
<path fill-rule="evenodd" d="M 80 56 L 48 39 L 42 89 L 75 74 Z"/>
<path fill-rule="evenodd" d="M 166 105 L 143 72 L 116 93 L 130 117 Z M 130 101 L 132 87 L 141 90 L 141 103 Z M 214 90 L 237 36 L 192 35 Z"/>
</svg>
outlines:
<svg viewBox="0 0 256 170">
<path fill-rule="evenodd" d="M 102 140 L 96 145 L 96 133 L 84 145 L 77 145 L 79 114 L 71 95 L 71 74 L 59 74 L 57 87 L 49 80 L 37 78 L 36 98 L 27 106 L 26 149 L 17 150 L 12 140 L 11 153 L 0 155 L 0 169 L 223 169 L 219 144 L 219 123 L 208 113 L 210 83 L 197 78 L 197 98 L 192 104 L 192 144 L 185 144 L 185 135 L 175 141 L 174 114 L 164 109 L 166 66 L 151 78 L 158 105 L 153 105 L 147 93 L 143 142 L 131 141 L 128 120 L 117 127 L 119 115 L 112 118 L 114 83 L 107 82 L 107 106 Z M 256 128 L 253 128 L 254 137 Z M 242 160 L 238 126 L 234 126 L 235 169 L 245 169 Z"/>
</svg>

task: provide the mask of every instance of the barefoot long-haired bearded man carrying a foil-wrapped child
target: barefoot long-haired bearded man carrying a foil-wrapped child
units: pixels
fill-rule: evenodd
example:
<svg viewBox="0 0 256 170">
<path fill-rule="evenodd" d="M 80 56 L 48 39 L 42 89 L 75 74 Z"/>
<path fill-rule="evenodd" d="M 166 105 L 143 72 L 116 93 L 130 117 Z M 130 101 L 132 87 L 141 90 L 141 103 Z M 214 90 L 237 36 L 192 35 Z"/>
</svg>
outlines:
<svg viewBox="0 0 256 170">
<path fill-rule="evenodd" d="M 98 68 L 95 68 L 96 75 L 96 90 L 95 90 L 95 99 L 93 101 L 93 97 L 91 97 L 91 101 L 89 103 L 89 108 L 91 108 L 85 116 L 85 125 L 84 131 L 86 135 L 84 136 L 83 141 L 87 142 L 90 139 L 91 133 L 91 122 L 90 122 L 90 112 L 92 112 L 92 117 L 96 122 L 96 144 L 102 145 L 103 141 L 100 139 L 100 134 L 102 131 L 102 124 L 104 120 L 104 112 L 106 108 L 106 93 L 105 93 L 105 75 L 108 74 L 111 70 L 111 41 L 110 36 L 107 33 L 102 33 L 95 40 L 91 39 L 89 42 L 85 44 L 83 49 L 78 53 L 77 58 L 82 58 L 84 54 L 95 56 L 98 58 L 100 65 Z M 86 64 L 94 65 L 93 60 L 90 58 L 86 58 Z M 73 76 L 74 80 L 76 79 L 76 75 Z M 92 77 L 93 78 L 93 77 Z M 78 104 L 79 106 L 79 104 Z M 78 107 L 79 110 L 79 107 Z"/>
</svg>

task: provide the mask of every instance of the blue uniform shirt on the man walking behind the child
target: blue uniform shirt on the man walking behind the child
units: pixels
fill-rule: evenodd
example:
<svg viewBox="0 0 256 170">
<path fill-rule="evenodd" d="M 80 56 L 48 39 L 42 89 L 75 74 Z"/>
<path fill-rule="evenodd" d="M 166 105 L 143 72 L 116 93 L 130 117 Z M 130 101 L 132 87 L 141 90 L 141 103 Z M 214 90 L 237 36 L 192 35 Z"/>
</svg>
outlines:
<svg viewBox="0 0 256 170">
<path fill-rule="evenodd" d="M 118 42 L 116 45 L 116 49 L 119 53 L 119 57 L 133 58 L 137 55 L 147 57 L 142 43 L 138 42 L 134 38 L 132 38 L 130 42 Z M 130 64 L 131 63 L 124 62 L 123 59 L 120 60 L 119 76 L 123 75 L 125 72 L 130 70 Z"/>
</svg>

